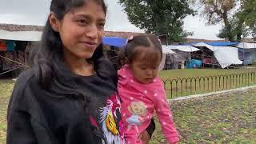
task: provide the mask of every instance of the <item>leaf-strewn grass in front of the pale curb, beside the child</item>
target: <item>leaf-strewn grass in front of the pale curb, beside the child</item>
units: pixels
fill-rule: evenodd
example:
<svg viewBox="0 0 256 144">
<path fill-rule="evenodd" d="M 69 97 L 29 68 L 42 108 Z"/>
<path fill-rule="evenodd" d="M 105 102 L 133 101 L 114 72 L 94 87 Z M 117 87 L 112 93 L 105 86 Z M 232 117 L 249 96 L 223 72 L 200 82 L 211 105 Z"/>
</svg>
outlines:
<svg viewBox="0 0 256 144">
<path fill-rule="evenodd" d="M 256 143 L 256 90 L 173 102 L 171 110 L 181 143 Z M 166 143 L 156 122 L 150 143 Z"/>
</svg>

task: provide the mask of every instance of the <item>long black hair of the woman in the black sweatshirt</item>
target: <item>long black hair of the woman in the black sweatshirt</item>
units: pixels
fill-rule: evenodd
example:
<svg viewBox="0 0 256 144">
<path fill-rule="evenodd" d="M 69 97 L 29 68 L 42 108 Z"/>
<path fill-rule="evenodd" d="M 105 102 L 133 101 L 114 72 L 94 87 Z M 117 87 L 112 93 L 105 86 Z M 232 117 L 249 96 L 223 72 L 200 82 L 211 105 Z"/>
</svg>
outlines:
<svg viewBox="0 0 256 144">
<path fill-rule="evenodd" d="M 50 12 L 53 12 L 58 20 L 62 20 L 64 15 L 71 9 L 84 6 L 90 0 L 52 0 L 50 4 Z M 106 14 L 106 4 L 103 0 L 91 0 L 97 2 Z M 31 61 L 34 74 L 38 78 L 38 82 L 43 87 L 50 86 L 54 71 L 60 71 L 59 62 L 63 61 L 62 56 L 62 40 L 58 32 L 55 32 L 50 26 L 49 19 L 42 32 L 41 44 L 37 50 L 32 51 Z M 102 44 L 94 51 L 92 58 L 87 59 L 88 62 L 94 63 L 94 70 L 98 73 L 106 73 L 99 70 L 101 59 L 103 57 Z"/>
</svg>

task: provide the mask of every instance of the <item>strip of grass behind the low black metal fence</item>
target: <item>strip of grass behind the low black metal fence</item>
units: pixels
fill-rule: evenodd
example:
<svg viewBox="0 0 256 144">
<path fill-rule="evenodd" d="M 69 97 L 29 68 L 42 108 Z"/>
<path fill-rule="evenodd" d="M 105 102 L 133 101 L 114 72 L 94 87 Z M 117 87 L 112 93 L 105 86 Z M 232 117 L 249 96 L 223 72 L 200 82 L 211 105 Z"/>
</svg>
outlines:
<svg viewBox="0 0 256 144">
<path fill-rule="evenodd" d="M 256 83 L 255 69 L 184 69 L 162 70 L 167 98 L 230 90 Z M 238 75 L 239 74 L 239 75 Z"/>
</svg>

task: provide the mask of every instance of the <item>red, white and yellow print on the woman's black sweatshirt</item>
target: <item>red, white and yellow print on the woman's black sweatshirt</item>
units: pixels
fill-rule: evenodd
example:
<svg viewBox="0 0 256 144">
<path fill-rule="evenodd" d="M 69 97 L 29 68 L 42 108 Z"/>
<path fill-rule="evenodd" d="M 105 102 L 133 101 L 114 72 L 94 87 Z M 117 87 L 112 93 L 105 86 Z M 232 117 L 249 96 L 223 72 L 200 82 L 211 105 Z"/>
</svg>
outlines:
<svg viewBox="0 0 256 144">
<path fill-rule="evenodd" d="M 122 144 L 124 134 L 122 130 L 122 120 L 120 114 L 121 102 L 118 94 L 110 96 L 106 101 L 106 106 L 100 109 L 100 122 L 106 142 L 109 144 Z"/>
</svg>

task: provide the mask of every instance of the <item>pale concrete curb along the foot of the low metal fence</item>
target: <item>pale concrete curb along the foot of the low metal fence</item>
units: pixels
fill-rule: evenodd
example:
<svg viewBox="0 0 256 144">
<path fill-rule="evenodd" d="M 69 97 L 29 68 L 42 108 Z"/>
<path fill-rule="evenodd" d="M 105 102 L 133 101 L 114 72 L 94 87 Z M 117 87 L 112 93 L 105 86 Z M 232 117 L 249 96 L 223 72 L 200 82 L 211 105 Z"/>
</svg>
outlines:
<svg viewBox="0 0 256 144">
<path fill-rule="evenodd" d="M 170 102 L 188 100 L 188 99 L 193 99 L 193 98 L 204 98 L 204 97 L 212 96 L 214 94 L 229 94 L 229 93 L 250 90 L 250 89 L 255 89 L 255 88 L 256 88 L 256 86 L 246 86 L 246 87 L 242 87 L 242 88 L 238 88 L 238 89 L 222 90 L 222 91 L 217 91 L 217 92 L 212 92 L 212 93 L 207 93 L 207 94 L 194 94 L 194 95 L 189 95 L 189 96 L 185 96 L 185 97 L 167 99 L 167 102 L 170 103 Z"/>
</svg>

